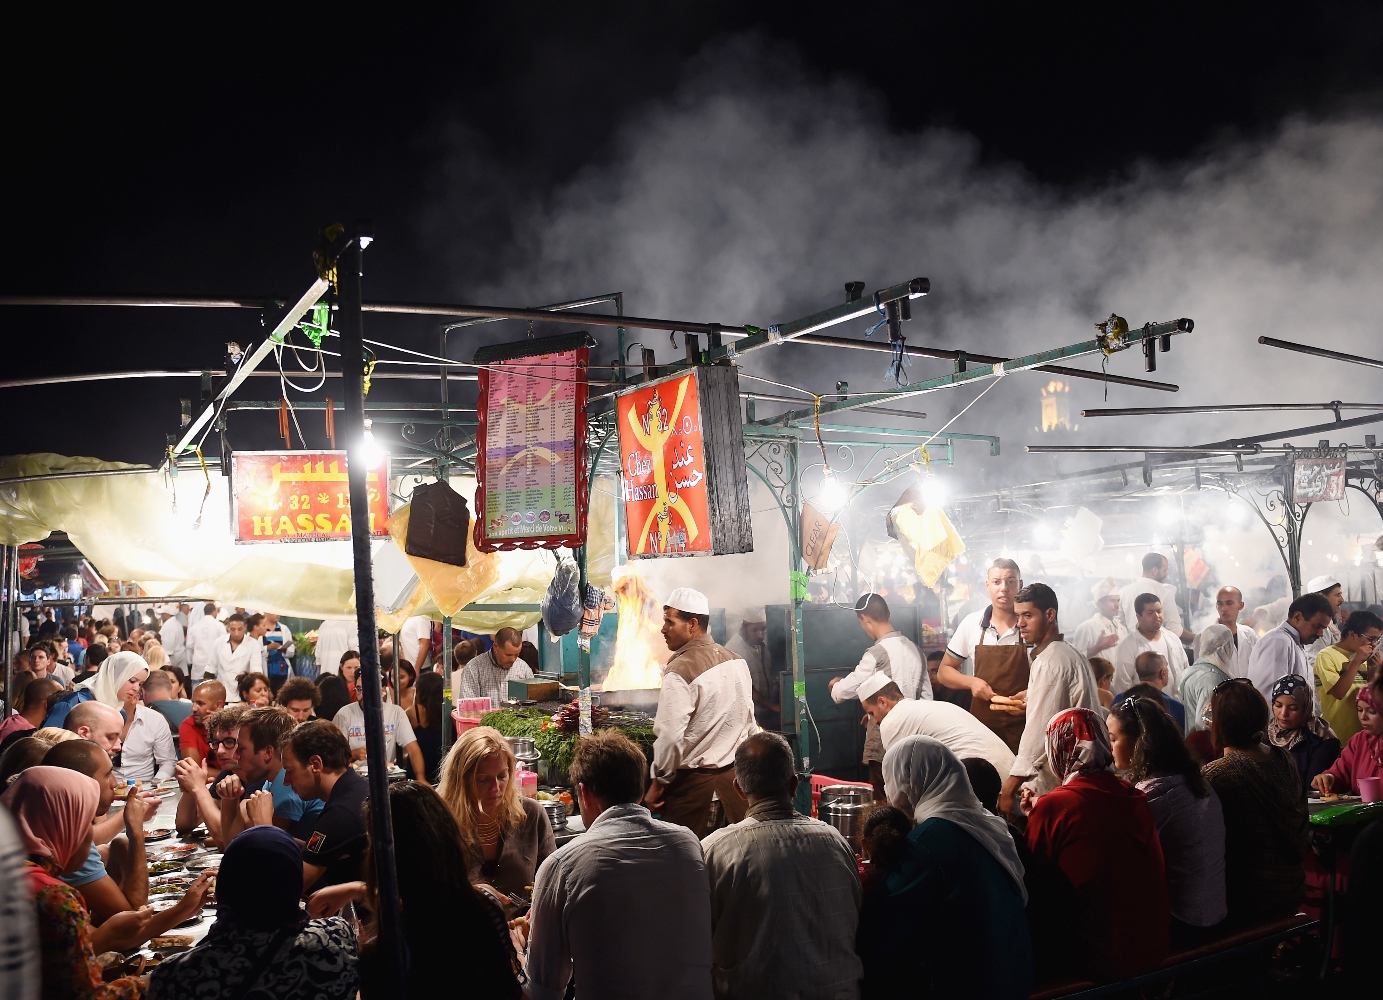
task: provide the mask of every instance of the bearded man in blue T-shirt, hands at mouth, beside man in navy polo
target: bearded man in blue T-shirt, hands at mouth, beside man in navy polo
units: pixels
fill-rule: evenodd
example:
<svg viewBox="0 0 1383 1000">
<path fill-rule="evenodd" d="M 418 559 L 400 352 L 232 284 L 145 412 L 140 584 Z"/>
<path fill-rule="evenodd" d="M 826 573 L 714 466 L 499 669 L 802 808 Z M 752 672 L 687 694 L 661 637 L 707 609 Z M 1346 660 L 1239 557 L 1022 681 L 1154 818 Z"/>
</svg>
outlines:
<svg viewBox="0 0 1383 1000">
<path fill-rule="evenodd" d="M 235 737 L 235 773 L 216 784 L 221 804 L 221 840 L 230 844 L 246 826 L 267 819 L 295 840 L 306 841 L 322 812 L 321 801 L 304 802 L 288 787 L 278 744 L 296 726 L 286 708 L 254 708 Z M 250 817 L 254 817 L 250 822 Z"/>
</svg>

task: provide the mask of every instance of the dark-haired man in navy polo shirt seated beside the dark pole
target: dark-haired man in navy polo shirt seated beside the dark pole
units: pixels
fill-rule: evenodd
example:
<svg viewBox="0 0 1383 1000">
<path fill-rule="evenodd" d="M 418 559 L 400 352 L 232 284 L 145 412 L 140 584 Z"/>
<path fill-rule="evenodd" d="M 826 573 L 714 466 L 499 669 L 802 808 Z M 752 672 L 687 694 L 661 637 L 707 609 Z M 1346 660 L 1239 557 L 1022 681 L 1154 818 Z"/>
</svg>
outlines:
<svg viewBox="0 0 1383 1000">
<path fill-rule="evenodd" d="M 303 889 L 360 881 L 369 784 L 351 770 L 346 736 L 326 719 L 314 719 L 289 732 L 279 754 L 297 797 L 325 804 L 303 844 Z M 270 822 L 263 809 L 249 819 L 252 826 Z"/>
</svg>

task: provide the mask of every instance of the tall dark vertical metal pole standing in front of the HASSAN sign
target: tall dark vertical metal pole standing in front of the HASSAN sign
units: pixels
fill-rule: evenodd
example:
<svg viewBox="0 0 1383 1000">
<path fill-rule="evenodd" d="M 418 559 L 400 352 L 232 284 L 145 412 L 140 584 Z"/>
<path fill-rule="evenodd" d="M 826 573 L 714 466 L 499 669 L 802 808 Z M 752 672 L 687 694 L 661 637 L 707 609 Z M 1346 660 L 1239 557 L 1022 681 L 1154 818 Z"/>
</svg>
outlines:
<svg viewBox="0 0 1383 1000">
<path fill-rule="evenodd" d="M 369 553 L 369 470 L 362 461 L 365 438 L 365 344 L 360 311 L 361 256 L 372 237 L 357 225 L 336 261 L 340 307 L 342 371 L 346 383 L 347 450 L 361 461 L 347 461 L 350 535 L 355 564 L 355 625 L 360 639 L 361 710 L 365 715 L 365 759 L 369 763 L 369 824 L 379 881 L 379 943 L 386 981 L 394 994 L 408 993 L 408 957 L 398 913 L 398 873 L 394 869 L 394 822 L 389 809 L 389 761 L 384 759 L 384 708 L 379 679 L 379 629 L 375 624 L 375 581 Z M 397 649 L 396 649 L 397 657 Z"/>
</svg>

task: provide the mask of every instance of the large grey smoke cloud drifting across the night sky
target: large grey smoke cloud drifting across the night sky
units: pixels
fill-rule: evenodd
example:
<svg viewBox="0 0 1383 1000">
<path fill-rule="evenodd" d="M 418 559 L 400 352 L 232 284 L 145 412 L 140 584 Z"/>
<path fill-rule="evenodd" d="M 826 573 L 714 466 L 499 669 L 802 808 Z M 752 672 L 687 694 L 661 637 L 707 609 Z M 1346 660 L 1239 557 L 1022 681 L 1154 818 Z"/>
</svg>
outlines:
<svg viewBox="0 0 1383 1000">
<path fill-rule="evenodd" d="M 848 279 L 873 289 L 925 275 L 934 292 L 913 303 L 907 340 L 1004 355 L 1090 339 L 1109 313 L 1133 325 L 1194 318 L 1195 333 L 1176 337 L 1147 376 L 1178 383 L 1177 394 L 1109 386 L 1105 404 L 1104 386 L 1076 380 L 1079 429 L 1044 436 L 1039 391 L 1050 376 L 1019 373 L 954 425 L 1003 438 L 1001 458 L 983 445 L 958 450 L 968 485 L 1051 479 L 1120 459 L 1023 456 L 1023 444 L 1191 445 L 1329 419 L 1082 420 L 1082 407 L 1377 400 L 1365 368 L 1256 340 L 1383 354 L 1380 162 L 1383 120 L 1293 118 L 1194 162 L 1129 163 L 1099 187 L 1059 191 L 982 162 L 967 134 L 896 131 L 877 95 L 815 77 L 791 53 L 745 37 L 690 64 L 671 100 L 624 123 L 604 162 L 520 216 L 502 277 L 483 297 L 537 303 L 620 289 L 631 314 L 768 325 L 838 302 Z M 860 336 L 867 325 L 831 332 Z M 613 335 L 600 339 L 613 346 Z M 629 339 L 657 347 L 660 361 L 682 355 L 680 337 L 676 347 L 667 333 Z M 887 389 L 885 368 L 884 354 L 810 346 L 768 349 L 743 365 L 819 393 L 837 379 L 852 391 Z M 949 369 L 914 358 L 909 375 Z M 1141 376 L 1142 357 L 1119 354 L 1109 371 Z M 893 405 L 925 409 L 921 426 L 936 427 L 981 387 Z M 1366 430 L 1332 440 L 1357 444 Z"/>
</svg>

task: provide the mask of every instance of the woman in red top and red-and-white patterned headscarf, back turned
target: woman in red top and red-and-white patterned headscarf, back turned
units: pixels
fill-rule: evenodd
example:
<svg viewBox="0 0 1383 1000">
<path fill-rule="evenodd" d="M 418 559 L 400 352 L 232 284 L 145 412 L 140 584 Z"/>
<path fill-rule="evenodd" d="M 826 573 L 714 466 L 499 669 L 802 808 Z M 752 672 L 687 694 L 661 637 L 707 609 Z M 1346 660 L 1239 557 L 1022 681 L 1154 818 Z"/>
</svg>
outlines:
<svg viewBox="0 0 1383 1000">
<path fill-rule="evenodd" d="M 1030 916 L 1046 932 L 1036 942 L 1051 963 L 1044 971 L 1124 979 L 1156 968 L 1167 957 L 1171 910 L 1147 797 L 1115 776 L 1109 733 L 1088 708 L 1047 725 L 1047 762 L 1061 786 L 1028 816 L 1043 887 Z"/>
</svg>

